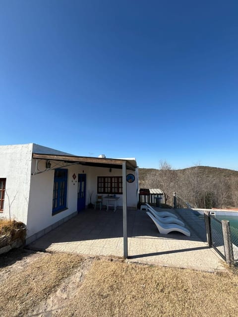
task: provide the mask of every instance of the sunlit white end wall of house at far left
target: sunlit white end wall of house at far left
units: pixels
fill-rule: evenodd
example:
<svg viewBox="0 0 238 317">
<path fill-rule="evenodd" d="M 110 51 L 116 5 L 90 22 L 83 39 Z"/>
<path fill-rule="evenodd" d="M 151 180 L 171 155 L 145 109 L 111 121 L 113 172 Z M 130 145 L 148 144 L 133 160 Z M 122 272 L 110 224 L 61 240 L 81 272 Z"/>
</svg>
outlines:
<svg viewBox="0 0 238 317">
<path fill-rule="evenodd" d="M 0 146 L 0 178 L 6 178 L 3 212 L 0 217 L 11 217 L 27 225 L 30 191 L 32 143 Z M 7 195 L 9 196 L 9 202 Z M 9 204 L 10 203 L 10 204 Z"/>
</svg>

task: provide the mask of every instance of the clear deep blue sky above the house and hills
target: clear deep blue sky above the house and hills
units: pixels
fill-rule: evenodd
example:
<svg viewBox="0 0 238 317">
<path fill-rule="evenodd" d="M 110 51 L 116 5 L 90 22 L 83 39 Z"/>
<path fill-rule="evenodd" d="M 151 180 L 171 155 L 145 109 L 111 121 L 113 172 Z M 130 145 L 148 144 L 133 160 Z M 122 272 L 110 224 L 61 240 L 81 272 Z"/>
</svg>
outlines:
<svg viewBox="0 0 238 317">
<path fill-rule="evenodd" d="M 0 144 L 238 170 L 238 2 L 0 0 Z"/>
</svg>

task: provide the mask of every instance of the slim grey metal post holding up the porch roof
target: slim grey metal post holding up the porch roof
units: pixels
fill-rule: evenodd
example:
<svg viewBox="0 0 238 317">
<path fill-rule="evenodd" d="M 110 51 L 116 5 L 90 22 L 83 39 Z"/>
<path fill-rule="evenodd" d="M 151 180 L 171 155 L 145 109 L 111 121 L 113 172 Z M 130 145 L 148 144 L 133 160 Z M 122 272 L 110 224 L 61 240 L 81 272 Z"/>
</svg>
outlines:
<svg viewBox="0 0 238 317">
<path fill-rule="evenodd" d="M 126 201 L 126 162 L 122 163 L 122 191 L 123 191 L 123 255 L 128 257 L 127 247 L 127 201 Z"/>
</svg>

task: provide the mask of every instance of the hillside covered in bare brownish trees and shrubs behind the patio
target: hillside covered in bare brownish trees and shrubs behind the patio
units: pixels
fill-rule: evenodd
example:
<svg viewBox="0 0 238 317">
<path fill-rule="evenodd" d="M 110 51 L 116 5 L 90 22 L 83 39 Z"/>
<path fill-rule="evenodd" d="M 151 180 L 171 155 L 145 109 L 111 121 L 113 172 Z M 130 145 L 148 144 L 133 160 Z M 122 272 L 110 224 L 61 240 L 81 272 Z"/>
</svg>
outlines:
<svg viewBox="0 0 238 317">
<path fill-rule="evenodd" d="M 160 169 L 139 168 L 140 188 L 160 188 L 172 204 L 173 192 L 197 208 L 238 208 L 238 171 L 193 166 L 172 169 L 166 163 Z"/>
</svg>

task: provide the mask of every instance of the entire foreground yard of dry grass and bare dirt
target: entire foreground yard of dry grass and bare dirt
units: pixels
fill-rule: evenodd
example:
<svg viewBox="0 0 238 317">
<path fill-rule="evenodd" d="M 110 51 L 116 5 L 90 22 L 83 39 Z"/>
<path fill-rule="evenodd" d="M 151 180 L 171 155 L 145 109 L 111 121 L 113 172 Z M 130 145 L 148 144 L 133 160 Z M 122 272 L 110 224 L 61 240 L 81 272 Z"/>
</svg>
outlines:
<svg viewBox="0 0 238 317">
<path fill-rule="evenodd" d="M 1 317 L 235 317 L 238 275 L 30 250 L 0 256 Z"/>
</svg>

